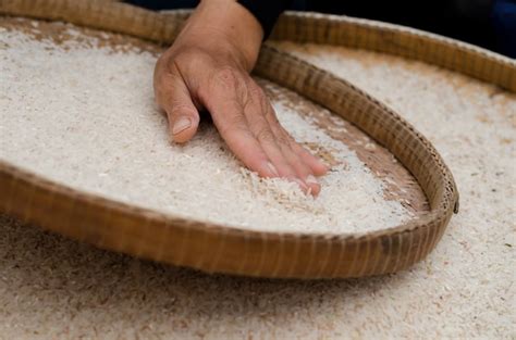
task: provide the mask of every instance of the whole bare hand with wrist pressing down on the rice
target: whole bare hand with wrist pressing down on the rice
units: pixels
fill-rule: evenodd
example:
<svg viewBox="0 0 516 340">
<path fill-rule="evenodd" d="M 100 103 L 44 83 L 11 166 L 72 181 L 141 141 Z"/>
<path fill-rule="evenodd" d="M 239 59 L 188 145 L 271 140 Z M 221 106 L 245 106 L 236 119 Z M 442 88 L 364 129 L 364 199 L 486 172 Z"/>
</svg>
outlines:
<svg viewBox="0 0 516 340">
<path fill-rule="evenodd" d="M 184 143 L 208 110 L 231 151 L 262 177 L 284 177 L 317 194 L 315 176 L 328 167 L 280 125 L 249 72 L 262 29 L 235 0 L 204 0 L 158 60 L 156 101 L 167 112 L 172 139 Z"/>
</svg>

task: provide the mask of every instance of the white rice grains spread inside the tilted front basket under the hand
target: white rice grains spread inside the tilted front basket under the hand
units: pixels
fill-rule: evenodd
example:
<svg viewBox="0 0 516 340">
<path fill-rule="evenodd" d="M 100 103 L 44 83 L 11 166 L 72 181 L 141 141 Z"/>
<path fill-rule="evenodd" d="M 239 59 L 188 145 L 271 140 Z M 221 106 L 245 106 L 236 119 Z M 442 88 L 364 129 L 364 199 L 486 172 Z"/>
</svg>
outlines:
<svg viewBox="0 0 516 340">
<path fill-rule="evenodd" d="M 281 124 L 336 160 L 317 199 L 244 168 L 210 124 L 186 146 L 170 144 L 153 103 L 157 53 L 45 24 L 61 25 L 65 38 L 56 41 L 42 24 L 25 24 L 0 28 L 0 159 L 73 188 L 238 228 L 342 234 L 410 218 L 354 151 L 284 99 L 273 101 Z"/>
</svg>

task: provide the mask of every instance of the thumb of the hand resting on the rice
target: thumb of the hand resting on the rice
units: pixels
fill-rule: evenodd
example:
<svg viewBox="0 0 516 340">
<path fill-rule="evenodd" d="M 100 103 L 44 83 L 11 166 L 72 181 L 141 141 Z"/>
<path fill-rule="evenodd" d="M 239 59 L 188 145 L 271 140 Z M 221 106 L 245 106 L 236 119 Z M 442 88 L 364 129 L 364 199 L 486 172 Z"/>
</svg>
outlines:
<svg viewBox="0 0 516 340">
<path fill-rule="evenodd" d="M 156 77 L 156 100 L 167 112 L 170 138 L 174 142 L 186 142 L 194 137 L 199 125 L 199 113 L 192 101 L 188 88 L 174 65 Z"/>
</svg>

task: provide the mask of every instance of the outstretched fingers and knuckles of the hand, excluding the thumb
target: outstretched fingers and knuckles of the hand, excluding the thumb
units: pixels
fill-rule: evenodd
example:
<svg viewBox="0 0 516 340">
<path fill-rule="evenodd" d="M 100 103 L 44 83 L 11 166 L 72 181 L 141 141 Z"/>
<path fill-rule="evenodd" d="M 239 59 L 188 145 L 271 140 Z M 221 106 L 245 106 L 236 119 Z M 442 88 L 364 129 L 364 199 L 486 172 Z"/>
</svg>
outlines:
<svg viewBox="0 0 516 340">
<path fill-rule="evenodd" d="M 221 70 L 199 89 L 204 105 L 235 155 L 260 176 L 284 177 L 318 194 L 325 166 L 280 126 L 261 88 L 247 75 Z"/>
</svg>

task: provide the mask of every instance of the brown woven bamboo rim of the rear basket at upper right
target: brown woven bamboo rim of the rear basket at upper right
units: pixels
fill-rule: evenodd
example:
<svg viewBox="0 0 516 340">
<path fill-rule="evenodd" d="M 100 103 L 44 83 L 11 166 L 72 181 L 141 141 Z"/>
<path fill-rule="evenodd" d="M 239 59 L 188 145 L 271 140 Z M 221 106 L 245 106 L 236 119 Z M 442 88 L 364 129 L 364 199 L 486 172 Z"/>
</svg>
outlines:
<svg viewBox="0 0 516 340">
<path fill-rule="evenodd" d="M 298 27 L 294 30 L 292 27 Z M 286 13 L 271 39 L 345 46 L 416 59 L 516 92 L 516 61 L 419 29 L 347 16 Z"/>
</svg>

